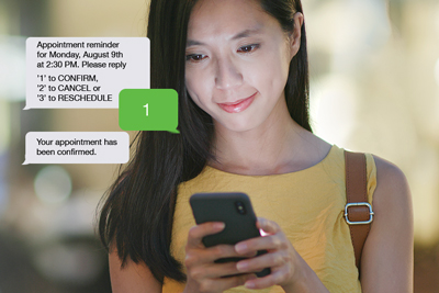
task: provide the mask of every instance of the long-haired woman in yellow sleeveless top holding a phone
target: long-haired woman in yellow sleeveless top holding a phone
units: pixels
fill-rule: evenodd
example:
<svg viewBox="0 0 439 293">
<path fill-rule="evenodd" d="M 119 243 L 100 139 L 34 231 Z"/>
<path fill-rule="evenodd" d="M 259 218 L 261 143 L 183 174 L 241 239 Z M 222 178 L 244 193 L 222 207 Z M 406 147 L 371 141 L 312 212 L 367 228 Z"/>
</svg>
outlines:
<svg viewBox="0 0 439 293">
<path fill-rule="evenodd" d="M 375 219 L 359 280 L 342 149 L 308 123 L 303 22 L 299 0 L 151 1 L 151 88 L 178 91 L 181 134 L 142 133 L 102 209 L 113 292 L 412 291 L 408 187 L 371 155 Z M 267 236 L 205 248 L 224 225 L 194 225 L 188 199 L 198 191 L 247 192 Z M 214 262 L 260 249 L 269 252 Z M 266 267 L 264 278 L 251 273 Z"/>
</svg>

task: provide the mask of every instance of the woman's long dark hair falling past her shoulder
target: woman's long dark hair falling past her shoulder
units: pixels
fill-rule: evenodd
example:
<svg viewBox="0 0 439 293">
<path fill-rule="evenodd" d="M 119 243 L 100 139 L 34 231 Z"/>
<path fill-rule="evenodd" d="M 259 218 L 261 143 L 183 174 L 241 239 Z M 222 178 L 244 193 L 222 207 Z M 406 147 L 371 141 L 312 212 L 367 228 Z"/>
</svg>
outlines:
<svg viewBox="0 0 439 293">
<path fill-rule="evenodd" d="M 185 42 L 190 13 L 196 0 L 151 0 L 148 37 L 151 88 L 175 89 L 179 94 L 179 131 L 140 132 L 135 154 L 102 201 L 99 236 L 106 249 L 126 259 L 145 262 L 154 277 L 184 281 L 182 264 L 170 255 L 178 185 L 196 177 L 210 159 L 213 123 L 196 106 L 184 84 Z M 261 0 L 267 13 L 291 32 L 293 15 L 303 12 L 300 0 Z M 290 64 L 285 100 L 291 117 L 311 131 L 308 122 L 308 63 L 305 25 L 301 47 Z"/>
</svg>

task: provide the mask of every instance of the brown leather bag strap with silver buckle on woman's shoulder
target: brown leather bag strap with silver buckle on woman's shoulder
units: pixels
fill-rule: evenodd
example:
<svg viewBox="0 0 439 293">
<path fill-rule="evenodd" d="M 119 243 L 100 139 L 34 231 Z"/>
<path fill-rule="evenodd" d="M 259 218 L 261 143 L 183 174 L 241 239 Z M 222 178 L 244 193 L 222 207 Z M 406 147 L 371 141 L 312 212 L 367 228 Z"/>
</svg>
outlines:
<svg viewBox="0 0 439 293">
<path fill-rule="evenodd" d="M 372 206 L 368 202 L 365 156 L 345 151 L 346 199 L 345 218 L 349 224 L 356 264 L 360 271 L 361 253 L 373 219 Z"/>
</svg>

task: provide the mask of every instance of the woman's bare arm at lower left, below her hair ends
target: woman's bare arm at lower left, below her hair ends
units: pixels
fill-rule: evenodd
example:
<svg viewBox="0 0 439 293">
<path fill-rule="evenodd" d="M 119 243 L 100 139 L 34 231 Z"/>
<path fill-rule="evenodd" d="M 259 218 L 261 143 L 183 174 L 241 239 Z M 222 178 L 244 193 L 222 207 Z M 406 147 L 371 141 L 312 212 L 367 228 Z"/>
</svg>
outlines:
<svg viewBox="0 0 439 293">
<path fill-rule="evenodd" d="M 161 284 L 144 262 L 135 263 L 128 259 L 122 267 L 117 251 L 112 249 L 109 255 L 110 279 L 113 293 L 161 293 Z"/>
</svg>

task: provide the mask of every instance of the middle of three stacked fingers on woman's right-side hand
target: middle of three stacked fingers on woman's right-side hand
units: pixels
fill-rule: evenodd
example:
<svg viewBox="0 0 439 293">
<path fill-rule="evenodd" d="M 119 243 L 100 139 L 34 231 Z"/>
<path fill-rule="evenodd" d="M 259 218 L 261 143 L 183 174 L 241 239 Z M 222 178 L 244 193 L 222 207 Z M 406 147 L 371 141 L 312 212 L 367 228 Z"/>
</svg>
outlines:
<svg viewBox="0 0 439 293">
<path fill-rule="evenodd" d="M 236 263 L 239 272 L 257 272 L 264 268 L 274 268 L 285 266 L 290 262 L 288 253 L 283 251 L 266 253 L 256 258 L 240 260 Z"/>
</svg>

